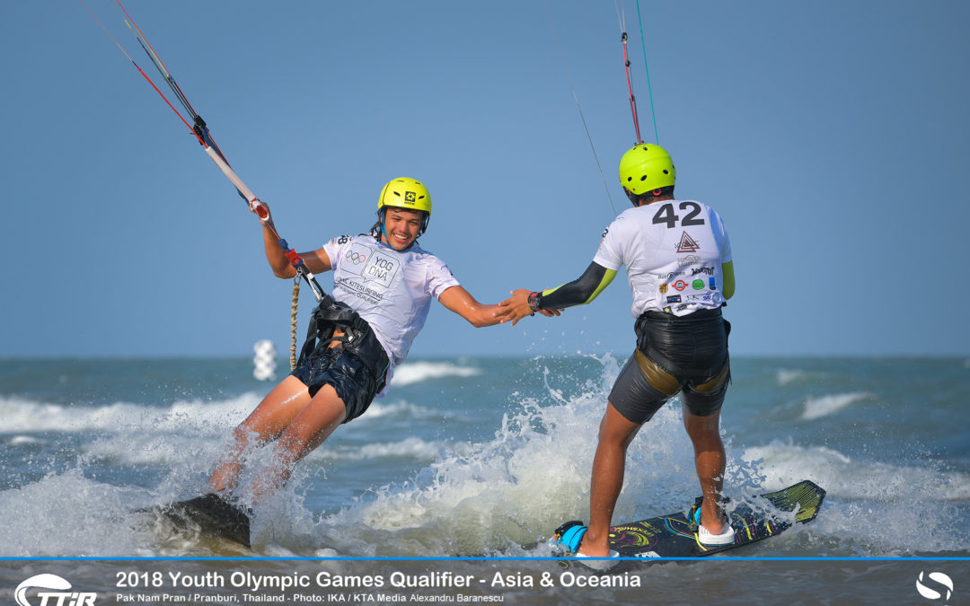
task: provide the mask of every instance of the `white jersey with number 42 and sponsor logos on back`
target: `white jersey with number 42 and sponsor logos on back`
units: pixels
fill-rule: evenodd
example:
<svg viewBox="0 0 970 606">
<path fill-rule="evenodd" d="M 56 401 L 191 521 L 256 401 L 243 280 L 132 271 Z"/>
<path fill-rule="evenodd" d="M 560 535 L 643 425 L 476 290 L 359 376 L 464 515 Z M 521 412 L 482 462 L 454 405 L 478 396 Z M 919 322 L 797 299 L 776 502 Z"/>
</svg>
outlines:
<svg viewBox="0 0 970 606">
<path fill-rule="evenodd" d="M 634 318 L 650 310 L 683 316 L 724 302 L 730 241 L 713 208 L 664 200 L 620 213 L 593 260 L 607 270 L 627 266 Z"/>
</svg>

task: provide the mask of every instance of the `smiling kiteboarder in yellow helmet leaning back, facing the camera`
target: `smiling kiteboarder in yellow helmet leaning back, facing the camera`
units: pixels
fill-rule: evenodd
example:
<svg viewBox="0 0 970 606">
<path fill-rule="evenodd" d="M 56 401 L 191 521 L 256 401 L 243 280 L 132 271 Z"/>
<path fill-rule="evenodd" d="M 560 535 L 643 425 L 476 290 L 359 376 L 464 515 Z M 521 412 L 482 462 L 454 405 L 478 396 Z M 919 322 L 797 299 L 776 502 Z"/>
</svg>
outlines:
<svg viewBox="0 0 970 606">
<path fill-rule="evenodd" d="M 383 395 L 433 300 L 474 327 L 499 322 L 498 305 L 478 303 L 448 266 L 417 242 L 431 209 L 423 182 L 393 178 L 380 192 L 370 234 L 339 236 L 300 253 L 309 271 L 334 271 L 333 293 L 313 312 L 297 367 L 233 432 L 211 474 L 212 494 L 199 499 L 259 502 L 281 486 L 296 462 Z M 295 270 L 269 229 L 272 215 L 266 223 L 263 243 L 270 267 L 277 277 L 291 279 Z M 246 454 L 269 442 L 275 442 L 275 466 L 256 478 L 251 494 L 238 490 Z"/>
</svg>

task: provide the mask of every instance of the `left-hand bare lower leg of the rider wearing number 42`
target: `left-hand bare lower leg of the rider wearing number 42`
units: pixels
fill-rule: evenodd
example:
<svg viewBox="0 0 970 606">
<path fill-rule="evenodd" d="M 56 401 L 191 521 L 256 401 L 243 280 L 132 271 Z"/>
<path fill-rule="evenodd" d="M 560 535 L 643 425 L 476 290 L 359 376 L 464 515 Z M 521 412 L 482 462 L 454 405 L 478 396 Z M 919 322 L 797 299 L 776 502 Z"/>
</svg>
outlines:
<svg viewBox="0 0 970 606">
<path fill-rule="evenodd" d="M 627 448 L 639 430 L 640 425 L 617 412 L 613 404 L 606 404 L 606 412 L 599 422 L 597 455 L 593 459 L 590 527 L 580 547 L 586 556 L 609 556 L 609 526 L 616 499 L 623 489 Z"/>
</svg>

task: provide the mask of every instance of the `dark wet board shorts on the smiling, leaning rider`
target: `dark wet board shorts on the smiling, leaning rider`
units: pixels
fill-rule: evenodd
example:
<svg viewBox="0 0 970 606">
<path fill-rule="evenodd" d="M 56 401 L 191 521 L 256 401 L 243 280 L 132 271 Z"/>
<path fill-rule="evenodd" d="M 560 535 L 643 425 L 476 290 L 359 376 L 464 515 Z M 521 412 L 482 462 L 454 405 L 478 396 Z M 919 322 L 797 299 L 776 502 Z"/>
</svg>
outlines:
<svg viewBox="0 0 970 606">
<path fill-rule="evenodd" d="M 368 334 L 366 338 L 376 338 Z M 384 388 L 384 376 L 376 376 L 373 368 L 388 366 L 383 347 L 367 348 L 378 360 L 363 360 L 358 354 L 342 345 L 327 347 L 321 343 L 299 366 L 290 372 L 307 386 L 310 398 L 316 396 L 324 385 L 333 386 L 347 409 L 343 423 L 356 419 L 371 406 L 374 397 Z"/>
</svg>

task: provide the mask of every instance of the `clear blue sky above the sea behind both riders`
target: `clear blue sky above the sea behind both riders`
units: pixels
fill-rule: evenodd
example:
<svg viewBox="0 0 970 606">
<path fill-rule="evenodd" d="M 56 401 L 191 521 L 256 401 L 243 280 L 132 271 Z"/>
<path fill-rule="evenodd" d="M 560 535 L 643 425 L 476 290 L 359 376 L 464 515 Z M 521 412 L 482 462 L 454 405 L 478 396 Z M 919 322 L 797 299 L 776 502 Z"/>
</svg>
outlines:
<svg viewBox="0 0 970 606">
<path fill-rule="evenodd" d="M 113 5 L 87 4 L 154 78 Z M 413 175 L 435 204 L 423 245 L 478 300 L 576 277 L 615 213 L 573 90 L 627 207 L 614 2 L 125 6 L 301 251 L 366 231 L 383 183 Z M 652 142 L 636 5 L 621 8 Z M 970 352 L 970 4 L 640 10 L 678 197 L 717 208 L 730 234 L 732 352 Z M 0 356 L 285 350 L 291 283 L 268 270 L 258 222 L 81 4 L 8 2 L 0 17 Z M 312 303 L 304 289 L 301 336 Z M 625 357 L 629 309 L 625 277 L 515 328 L 474 330 L 436 304 L 411 356 Z"/>
</svg>

